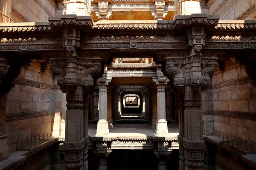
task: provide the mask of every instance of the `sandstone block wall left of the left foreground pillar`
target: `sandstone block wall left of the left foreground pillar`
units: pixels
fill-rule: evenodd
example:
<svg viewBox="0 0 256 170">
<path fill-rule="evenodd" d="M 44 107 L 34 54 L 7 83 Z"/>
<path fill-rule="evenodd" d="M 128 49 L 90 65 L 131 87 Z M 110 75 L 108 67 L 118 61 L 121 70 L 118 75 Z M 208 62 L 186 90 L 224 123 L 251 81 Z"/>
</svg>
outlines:
<svg viewBox="0 0 256 170">
<path fill-rule="evenodd" d="M 60 135 L 62 92 L 53 85 L 56 79 L 51 70 L 41 69 L 38 61 L 22 68 L 15 87 L 7 94 L 5 132 L 9 152 L 16 150 L 22 139 L 43 133 Z"/>
</svg>

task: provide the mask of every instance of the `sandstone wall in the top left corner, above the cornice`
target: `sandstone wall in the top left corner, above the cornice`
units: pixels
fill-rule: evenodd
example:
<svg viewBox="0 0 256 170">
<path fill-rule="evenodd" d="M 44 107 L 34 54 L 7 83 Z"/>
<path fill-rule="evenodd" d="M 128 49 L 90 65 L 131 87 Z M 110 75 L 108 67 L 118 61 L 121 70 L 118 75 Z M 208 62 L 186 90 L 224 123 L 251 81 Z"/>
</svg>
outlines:
<svg viewBox="0 0 256 170">
<path fill-rule="evenodd" d="M 55 16 L 57 6 L 53 0 L 12 0 L 14 22 L 47 22 Z"/>
</svg>

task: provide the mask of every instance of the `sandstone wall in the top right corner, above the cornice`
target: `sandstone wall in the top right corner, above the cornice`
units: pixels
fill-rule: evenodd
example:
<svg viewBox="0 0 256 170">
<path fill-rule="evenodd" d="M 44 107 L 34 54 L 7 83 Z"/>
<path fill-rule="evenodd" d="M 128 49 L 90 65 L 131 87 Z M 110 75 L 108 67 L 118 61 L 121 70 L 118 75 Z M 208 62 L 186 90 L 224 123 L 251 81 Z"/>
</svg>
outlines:
<svg viewBox="0 0 256 170">
<path fill-rule="evenodd" d="M 252 20 L 256 17 L 255 0 L 208 0 L 202 13 L 220 15 L 221 20 Z"/>
</svg>

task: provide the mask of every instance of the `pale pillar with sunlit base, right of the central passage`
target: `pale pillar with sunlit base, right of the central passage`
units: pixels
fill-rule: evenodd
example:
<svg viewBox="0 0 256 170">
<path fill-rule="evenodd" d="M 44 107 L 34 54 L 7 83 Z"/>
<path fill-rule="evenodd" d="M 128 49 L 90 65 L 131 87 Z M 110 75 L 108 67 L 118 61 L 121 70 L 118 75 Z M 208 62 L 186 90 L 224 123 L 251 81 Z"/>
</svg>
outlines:
<svg viewBox="0 0 256 170">
<path fill-rule="evenodd" d="M 156 135 L 165 136 L 168 133 L 166 121 L 166 96 L 165 85 L 169 81 L 164 76 L 153 77 L 153 81 L 157 84 L 157 125 Z"/>
</svg>

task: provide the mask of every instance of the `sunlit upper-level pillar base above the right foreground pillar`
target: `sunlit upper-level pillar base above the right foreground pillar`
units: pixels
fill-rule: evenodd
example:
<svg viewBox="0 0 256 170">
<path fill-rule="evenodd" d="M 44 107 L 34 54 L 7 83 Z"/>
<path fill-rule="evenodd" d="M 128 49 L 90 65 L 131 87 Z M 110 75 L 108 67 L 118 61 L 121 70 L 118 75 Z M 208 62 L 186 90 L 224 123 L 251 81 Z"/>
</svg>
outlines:
<svg viewBox="0 0 256 170">
<path fill-rule="evenodd" d="M 201 14 L 201 7 L 199 0 L 175 0 L 175 14 L 177 15 L 191 15 Z"/>
</svg>

